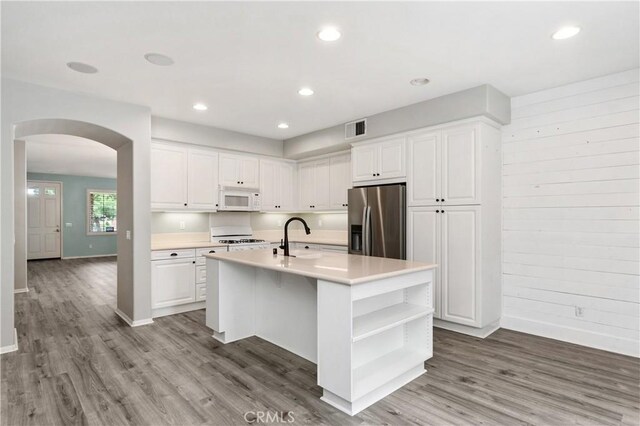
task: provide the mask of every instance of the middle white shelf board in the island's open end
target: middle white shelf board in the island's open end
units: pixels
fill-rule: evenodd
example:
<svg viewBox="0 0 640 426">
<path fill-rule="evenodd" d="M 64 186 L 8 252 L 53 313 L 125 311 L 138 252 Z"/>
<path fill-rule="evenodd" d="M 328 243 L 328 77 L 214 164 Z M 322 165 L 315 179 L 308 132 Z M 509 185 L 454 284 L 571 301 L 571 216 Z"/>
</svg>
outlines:
<svg viewBox="0 0 640 426">
<path fill-rule="evenodd" d="M 428 306 L 398 303 L 353 319 L 353 342 L 382 333 L 390 328 L 425 317 L 433 312 Z"/>
</svg>

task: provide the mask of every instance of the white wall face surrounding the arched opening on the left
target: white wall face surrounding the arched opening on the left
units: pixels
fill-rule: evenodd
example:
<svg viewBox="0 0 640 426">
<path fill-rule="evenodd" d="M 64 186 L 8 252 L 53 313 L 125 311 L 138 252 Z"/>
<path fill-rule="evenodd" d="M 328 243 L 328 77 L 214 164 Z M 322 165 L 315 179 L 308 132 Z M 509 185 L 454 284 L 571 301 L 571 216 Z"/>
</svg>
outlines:
<svg viewBox="0 0 640 426">
<path fill-rule="evenodd" d="M 151 232 L 149 225 L 149 157 L 150 157 L 150 110 L 146 107 L 113 102 L 83 94 L 66 92 L 24 83 L 11 79 L 2 79 L 2 138 L 0 145 L 2 205 L 0 209 L 1 272 L 0 272 L 0 347 L 9 348 L 14 344 L 14 187 L 13 154 L 14 126 L 36 119 L 68 119 L 97 124 L 120 133 L 133 141 L 133 164 L 121 164 L 118 155 L 118 177 L 130 176 L 132 179 L 131 199 L 133 217 L 124 218 L 131 223 L 133 239 L 121 241 L 130 251 L 130 271 L 118 266 L 118 275 L 126 274 L 128 279 L 131 310 L 127 312 L 135 321 L 151 317 Z M 46 132 L 45 132 L 46 133 Z M 49 132 L 51 133 L 51 132 Z M 131 157 L 131 155 L 129 155 Z M 126 170 L 125 170 L 126 169 Z M 119 179 L 120 183 L 120 179 Z M 120 186 L 118 191 L 120 192 Z M 123 194 L 128 196 L 128 194 Z M 119 194 L 120 198 L 120 194 Z M 122 237 L 124 238 L 124 236 Z M 118 249 L 120 251 L 120 247 Z M 135 261 L 134 261 L 135 259 Z M 118 283 L 118 297 L 121 291 Z M 135 284 L 135 285 L 134 285 Z"/>
</svg>

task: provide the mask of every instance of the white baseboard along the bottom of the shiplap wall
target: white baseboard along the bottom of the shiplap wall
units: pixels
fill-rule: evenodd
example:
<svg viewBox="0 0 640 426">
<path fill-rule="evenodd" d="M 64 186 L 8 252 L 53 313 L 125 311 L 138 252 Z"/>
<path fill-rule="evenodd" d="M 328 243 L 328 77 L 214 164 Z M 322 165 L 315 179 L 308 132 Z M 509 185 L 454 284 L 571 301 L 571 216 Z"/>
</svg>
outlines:
<svg viewBox="0 0 640 426">
<path fill-rule="evenodd" d="M 640 342 L 637 340 L 623 339 L 577 328 L 561 327 L 556 324 L 511 316 L 502 317 L 500 326 L 508 330 L 520 331 L 535 336 L 548 337 L 550 339 L 575 343 L 576 345 L 588 346 L 590 348 L 640 358 Z"/>
</svg>

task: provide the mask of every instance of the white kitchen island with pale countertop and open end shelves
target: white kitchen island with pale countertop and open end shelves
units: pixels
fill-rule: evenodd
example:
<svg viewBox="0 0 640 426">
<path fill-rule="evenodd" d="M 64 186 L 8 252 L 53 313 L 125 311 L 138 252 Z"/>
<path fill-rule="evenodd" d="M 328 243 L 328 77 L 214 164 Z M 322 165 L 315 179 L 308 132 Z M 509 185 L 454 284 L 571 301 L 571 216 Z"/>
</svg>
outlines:
<svg viewBox="0 0 640 426">
<path fill-rule="evenodd" d="M 425 372 L 436 265 L 340 253 L 211 253 L 206 323 L 317 364 L 322 400 L 354 415 Z"/>
</svg>

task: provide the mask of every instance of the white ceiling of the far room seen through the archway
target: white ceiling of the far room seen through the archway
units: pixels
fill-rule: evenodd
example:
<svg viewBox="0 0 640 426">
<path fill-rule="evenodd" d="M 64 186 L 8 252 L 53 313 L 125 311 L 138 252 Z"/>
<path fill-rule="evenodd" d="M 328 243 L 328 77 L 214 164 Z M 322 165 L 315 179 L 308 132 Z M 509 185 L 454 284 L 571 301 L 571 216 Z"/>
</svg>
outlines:
<svg viewBox="0 0 640 426">
<path fill-rule="evenodd" d="M 117 154 L 112 148 L 67 135 L 37 135 L 26 138 L 27 171 L 74 176 L 115 178 Z"/>
</svg>

